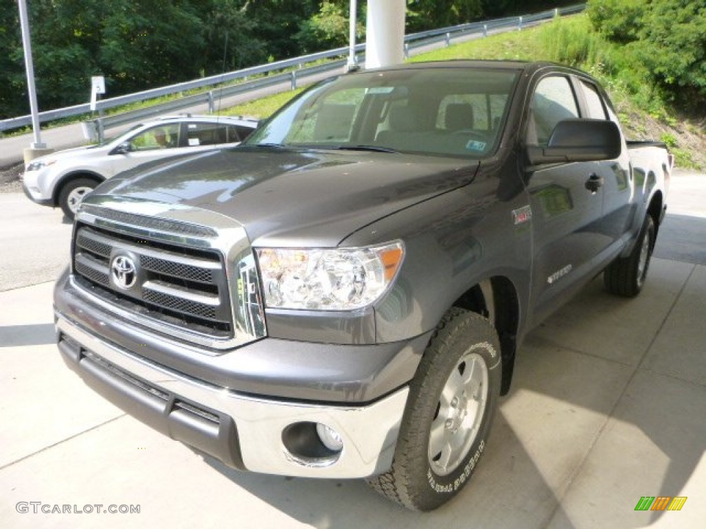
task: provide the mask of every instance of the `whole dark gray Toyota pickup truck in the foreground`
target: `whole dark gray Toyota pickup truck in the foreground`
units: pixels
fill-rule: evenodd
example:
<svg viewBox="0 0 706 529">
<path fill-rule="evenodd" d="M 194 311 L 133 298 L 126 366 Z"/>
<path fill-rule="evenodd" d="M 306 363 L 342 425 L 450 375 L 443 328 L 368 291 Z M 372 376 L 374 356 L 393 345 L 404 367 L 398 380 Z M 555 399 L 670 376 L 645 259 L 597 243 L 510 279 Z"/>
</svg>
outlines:
<svg viewBox="0 0 706 529">
<path fill-rule="evenodd" d="M 597 274 L 640 292 L 671 166 L 571 68 L 340 75 L 239 147 L 88 195 L 59 350 L 227 466 L 434 509 L 491 449 L 527 332 Z"/>
</svg>

